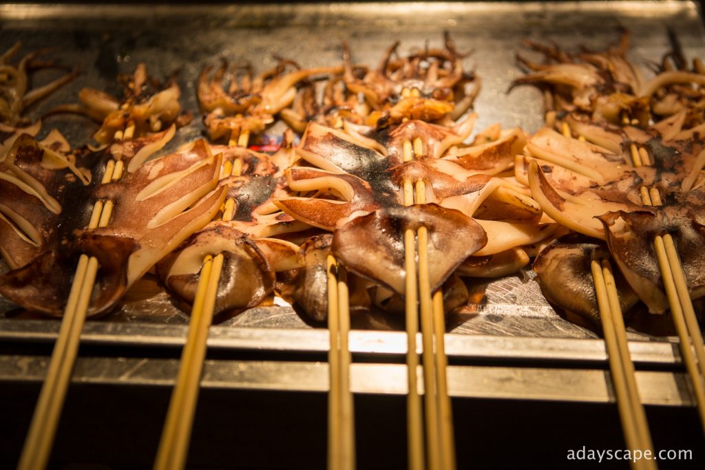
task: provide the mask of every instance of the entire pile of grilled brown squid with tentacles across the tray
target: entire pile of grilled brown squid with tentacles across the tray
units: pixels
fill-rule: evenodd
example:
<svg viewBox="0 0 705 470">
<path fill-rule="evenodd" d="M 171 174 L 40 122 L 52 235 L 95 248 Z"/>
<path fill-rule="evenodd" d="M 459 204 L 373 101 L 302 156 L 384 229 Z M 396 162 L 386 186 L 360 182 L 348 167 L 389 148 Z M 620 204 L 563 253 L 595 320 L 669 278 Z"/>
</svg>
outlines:
<svg viewBox="0 0 705 470">
<path fill-rule="evenodd" d="M 424 226 L 447 312 L 469 302 L 473 283 L 535 258 L 549 301 L 595 321 L 589 260 L 611 253 L 623 310 L 662 313 L 650 246 L 666 232 L 692 297 L 703 297 L 702 66 L 664 60 L 646 80 L 627 44 L 626 32 L 602 52 L 529 43 L 546 61 L 520 58 L 531 72 L 515 86 L 544 89 L 547 126 L 535 135 L 496 124 L 473 136 L 479 78 L 447 35 L 443 49 L 408 56 L 393 44 L 376 68 L 353 63 L 347 44 L 339 66 L 278 59 L 255 75 L 223 61 L 197 79 L 207 139 L 161 156 L 189 116 L 175 82 L 140 64 L 122 79 L 123 99 L 82 89 L 81 105 L 55 110 L 98 120 L 97 146 L 72 149 L 58 131 L 37 140 L 39 123 L 5 130 L 0 254 L 11 270 L 0 294 L 60 315 L 75 261 L 90 254 L 100 265 L 90 314 L 110 311 L 150 270 L 189 311 L 204 256 L 223 254 L 216 314 L 277 295 L 321 321 L 333 254 L 353 311 L 395 314 L 405 308 L 404 234 Z M 250 148 L 280 121 L 290 130 L 276 151 Z M 107 161 L 124 175 L 104 181 Z M 644 186 L 663 205 L 644 206 Z M 114 213 L 89 229 L 97 201 Z"/>
</svg>

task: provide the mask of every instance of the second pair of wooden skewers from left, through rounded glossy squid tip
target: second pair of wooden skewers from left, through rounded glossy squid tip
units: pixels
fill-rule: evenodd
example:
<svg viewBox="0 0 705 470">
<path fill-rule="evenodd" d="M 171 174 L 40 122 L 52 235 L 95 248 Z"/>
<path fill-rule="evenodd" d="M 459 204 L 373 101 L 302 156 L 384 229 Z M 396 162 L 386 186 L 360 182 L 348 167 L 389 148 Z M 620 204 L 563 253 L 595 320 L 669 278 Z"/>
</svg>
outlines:
<svg viewBox="0 0 705 470">
<path fill-rule="evenodd" d="M 249 138 L 249 137 L 248 137 Z M 238 141 L 243 140 L 239 138 Z M 231 140 L 233 142 L 233 140 Z M 247 139 L 244 140 L 245 145 Z M 240 175 L 242 162 L 223 164 L 223 176 Z M 235 201 L 227 199 L 223 204 L 221 220 L 230 221 L 235 213 Z M 171 395 L 166 413 L 164 431 L 159 441 L 155 470 L 183 469 L 188 455 L 193 419 L 198 401 L 199 385 L 206 356 L 208 330 L 213 323 L 213 314 L 218 293 L 224 257 L 222 253 L 207 255 L 201 266 L 196 295 L 191 309 L 188 336 L 183 352 L 176 386 Z"/>
</svg>

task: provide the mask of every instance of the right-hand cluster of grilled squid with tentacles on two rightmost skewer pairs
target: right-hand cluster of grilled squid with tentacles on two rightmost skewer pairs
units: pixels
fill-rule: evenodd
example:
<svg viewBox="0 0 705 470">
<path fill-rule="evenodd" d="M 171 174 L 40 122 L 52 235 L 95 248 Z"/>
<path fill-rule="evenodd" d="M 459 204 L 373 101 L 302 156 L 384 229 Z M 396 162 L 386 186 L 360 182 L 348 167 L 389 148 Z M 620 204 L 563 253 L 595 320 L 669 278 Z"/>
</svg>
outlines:
<svg viewBox="0 0 705 470">
<path fill-rule="evenodd" d="M 686 70 L 674 45 L 656 77 L 644 80 L 626 61 L 626 44 L 626 33 L 620 47 L 604 53 L 573 55 L 531 44 L 560 63 L 533 64 L 537 71 L 517 80 L 547 87 L 557 111 L 549 114 L 550 124 L 563 133 L 544 128 L 530 137 L 517 156 L 516 178 L 529 185 L 548 216 L 589 237 L 556 242 L 534 269 L 551 302 L 591 321 L 598 319 L 589 274 L 595 252 L 610 253 L 619 267 L 623 311 L 637 304 L 653 314 L 666 311 L 656 235 L 675 240 L 690 297 L 705 296 L 705 257 L 698 248 L 705 242 L 703 68 L 694 61 Z M 578 84 L 574 66 L 582 73 L 600 70 L 594 76 L 610 80 L 601 87 Z M 606 112 L 607 103 L 619 105 Z M 661 201 L 645 204 L 645 190 L 657 190 Z M 565 279 L 571 279 L 568 287 Z"/>
</svg>

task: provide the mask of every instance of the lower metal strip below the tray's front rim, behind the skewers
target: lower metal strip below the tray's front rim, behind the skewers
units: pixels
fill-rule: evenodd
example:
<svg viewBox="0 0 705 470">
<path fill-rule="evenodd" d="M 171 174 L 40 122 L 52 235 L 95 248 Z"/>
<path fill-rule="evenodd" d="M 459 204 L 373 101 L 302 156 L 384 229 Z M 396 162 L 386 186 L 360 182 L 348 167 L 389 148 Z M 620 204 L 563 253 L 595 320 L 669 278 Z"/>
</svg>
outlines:
<svg viewBox="0 0 705 470">
<path fill-rule="evenodd" d="M 46 368 L 44 358 L 0 357 L 0 381 L 39 382 Z M 73 382 L 171 386 L 177 372 L 177 359 L 79 358 Z M 353 364 L 351 369 L 351 388 L 355 393 L 400 395 L 406 393 L 406 383 L 402 364 Z M 637 371 L 637 383 L 645 404 L 694 403 L 682 373 Z M 201 384 L 207 388 L 326 392 L 328 365 L 208 360 Z M 599 369 L 449 366 L 448 392 L 453 397 L 614 402 L 608 374 Z"/>
</svg>

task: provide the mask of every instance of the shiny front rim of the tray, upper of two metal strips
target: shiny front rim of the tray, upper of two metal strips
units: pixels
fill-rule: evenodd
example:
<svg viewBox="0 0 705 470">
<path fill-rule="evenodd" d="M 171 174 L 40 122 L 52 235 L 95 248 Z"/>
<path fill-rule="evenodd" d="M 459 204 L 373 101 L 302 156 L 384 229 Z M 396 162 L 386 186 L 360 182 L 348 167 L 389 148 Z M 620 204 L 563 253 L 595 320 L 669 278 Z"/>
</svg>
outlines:
<svg viewBox="0 0 705 470">
<path fill-rule="evenodd" d="M 56 339 L 57 321 L 0 319 L 0 341 L 44 341 Z M 185 342 L 184 326 L 125 323 L 87 323 L 81 342 L 85 345 L 121 347 L 180 347 Z M 459 359 L 523 359 L 537 361 L 605 362 L 601 340 L 561 338 L 503 338 L 488 335 L 446 334 L 446 352 Z M 326 352 L 327 330 L 294 330 L 270 328 L 226 328 L 209 330 L 211 350 L 260 350 L 290 352 Z M 417 341 L 418 352 L 422 345 Z M 670 342 L 630 342 L 636 363 L 680 364 L 678 349 Z M 406 353 L 405 333 L 396 331 L 351 331 L 350 351 L 357 354 Z M 381 359 L 380 359 L 381 360 Z"/>
</svg>

